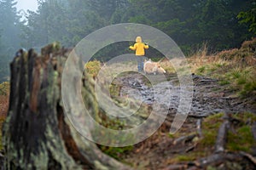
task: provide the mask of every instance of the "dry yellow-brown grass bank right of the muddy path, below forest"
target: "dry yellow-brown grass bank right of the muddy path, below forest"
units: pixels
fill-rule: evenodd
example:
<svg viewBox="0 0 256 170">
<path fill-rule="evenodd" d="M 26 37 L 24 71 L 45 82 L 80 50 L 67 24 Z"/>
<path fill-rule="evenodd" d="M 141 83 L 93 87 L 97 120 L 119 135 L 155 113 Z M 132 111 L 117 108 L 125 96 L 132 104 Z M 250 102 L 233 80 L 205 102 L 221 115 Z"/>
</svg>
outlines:
<svg viewBox="0 0 256 170">
<path fill-rule="evenodd" d="M 191 72 L 219 80 L 243 97 L 256 94 L 256 38 L 243 42 L 241 48 L 218 54 L 200 51 L 188 58 Z"/>
</svg>

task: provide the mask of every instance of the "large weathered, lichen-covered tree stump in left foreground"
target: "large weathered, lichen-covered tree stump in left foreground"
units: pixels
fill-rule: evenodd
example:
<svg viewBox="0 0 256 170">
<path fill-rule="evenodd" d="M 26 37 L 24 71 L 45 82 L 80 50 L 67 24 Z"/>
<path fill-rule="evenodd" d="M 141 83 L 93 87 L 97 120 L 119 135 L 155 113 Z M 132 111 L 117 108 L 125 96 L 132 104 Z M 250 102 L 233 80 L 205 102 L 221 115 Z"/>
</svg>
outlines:
<svg viewBox="0 0 256 170">
<path fill-rule="evenodd" d="M 130 169 L 81 137 L 64 114 L 61 71 L 69 53 L 53 43 L 42 56 L 20 50 L 11 63 L 6 169 Z"/>
</svg>

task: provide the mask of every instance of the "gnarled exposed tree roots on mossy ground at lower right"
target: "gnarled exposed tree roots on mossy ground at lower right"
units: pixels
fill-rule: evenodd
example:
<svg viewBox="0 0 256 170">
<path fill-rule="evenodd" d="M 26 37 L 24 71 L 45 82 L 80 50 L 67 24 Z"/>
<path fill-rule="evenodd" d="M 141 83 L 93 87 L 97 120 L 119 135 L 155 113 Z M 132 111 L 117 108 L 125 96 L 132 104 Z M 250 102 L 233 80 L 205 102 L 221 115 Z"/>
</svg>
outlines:
<svg viewBox="0 0 256 170">
<path fill-rule="evenodd" d="M 177 169 L 205 169 L 208 166 L 218 167 L 221 164 L 224 164 L 226 161 L 250 161 L 253 167 L 256 167 L 256 157 L 253 155 L 240 151 L 240 152 L 227 152 L 225 151 L 225 144 L 227 142 L 227 133 L 229 130 L 232 130 L 231 127 L 236 126 L 237 124 L 243 123 L 241 120 L 232 117 L 230 114 L 224 114 L 224 122 L 218 128 L 218 135 L 215 143 L 214 153 L 210 156 L 202 157 L 196 161 L 185 162 L 184 164 L 174 164 L 170 165 L 164 170 L 177 170 Z M 201 133 L 201 119 L 196 122 L 197 134 L 202 137 Z M 232 132 L 232 131 L 231 131 Z M 252 133 L 254 139 L 256 139 L 256 123 L 253 122 Z M 190 134 L 188 136 L 180 137 L 174 140 L 173 144 L 184 144 L 187 141 L 191 141 L 195 138 L 195 134 Z M 197 143 L 186 148 L 186 151 L 193 150 L 196 147 Z"/>
</svg>

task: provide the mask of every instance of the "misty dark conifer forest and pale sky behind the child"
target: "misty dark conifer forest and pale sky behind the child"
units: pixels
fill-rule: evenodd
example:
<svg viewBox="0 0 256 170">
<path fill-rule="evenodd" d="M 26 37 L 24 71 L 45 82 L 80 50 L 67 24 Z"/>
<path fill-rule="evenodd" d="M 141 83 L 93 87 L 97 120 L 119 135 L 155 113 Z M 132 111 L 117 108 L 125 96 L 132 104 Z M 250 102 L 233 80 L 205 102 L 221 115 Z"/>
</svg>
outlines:
<svg viewBox="0 0 256 170">
<path fill-rule="evenodd" d="M 255 37 L 252 23 L 242 21 L 253 8 L 251 0 L 1 0 L 0 82 L 9 80 L 9 63 L 19 48 L 40 51 L 55 41 L 73 47 L 92 31 L 118 23 L 154 26 L 187 56 L 204 44 L 209 53 L 239 48 Z M 110 45 L 96 57 L 127 53 L 129 43 Z M 160 55 L 152 50 L 148 54 Z"/>
</svg>

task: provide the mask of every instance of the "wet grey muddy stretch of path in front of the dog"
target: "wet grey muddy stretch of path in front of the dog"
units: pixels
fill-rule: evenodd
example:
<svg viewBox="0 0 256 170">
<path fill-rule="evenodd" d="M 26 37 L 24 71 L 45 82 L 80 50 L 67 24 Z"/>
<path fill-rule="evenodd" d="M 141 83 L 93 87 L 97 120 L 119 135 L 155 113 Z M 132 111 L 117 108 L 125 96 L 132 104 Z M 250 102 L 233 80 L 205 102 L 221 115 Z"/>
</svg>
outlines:
<svg viewBox="0 0 256 170">
<path fill-rule="evenodd" d="M 157 78 L 157 76 L 149 77 Z M 166 107 L 169 105 L 169 113 L 176 113 L 181 91 L 178 86 L 177 77 L 171 78 L 168 82 L 156 84 L 154 88 L 148 87 L 143 82 L 145 77 L 141 74 L 119 77 L 115 83 L 119 83 L 122 87 L 120 90 L 121 96 L 129 95 L 129 97 L 142 100 L 148 105 L 152 105 L 154 101 L 160 105 L 166 105 Z M 247 102 L 247 100 L 239 99 L 226 90 L 224 86 L 218 85 L 217 80 L 194 75 L 193 82 L 194 94 L 189 112 L 190 116 L 209 116 L 219 112 L 255 111 L 255 107 L 251 103 Z M 168 90 L 171 93 L 169 96 L 166 95 Z"/>
</svg>

